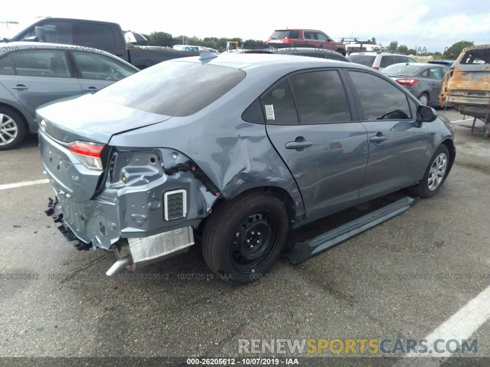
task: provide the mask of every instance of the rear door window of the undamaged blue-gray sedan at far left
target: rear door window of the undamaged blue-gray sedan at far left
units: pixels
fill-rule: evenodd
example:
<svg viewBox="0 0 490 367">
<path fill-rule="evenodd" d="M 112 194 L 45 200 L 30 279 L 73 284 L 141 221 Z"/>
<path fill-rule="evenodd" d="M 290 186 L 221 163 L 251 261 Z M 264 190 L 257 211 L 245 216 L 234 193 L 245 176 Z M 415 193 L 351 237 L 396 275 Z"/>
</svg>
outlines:
<svg viewBox="0 0 490 367">
<path fill-rule="evenodd" d="M 10 56 L 17 75 L 70 77 L 65 51 L 36 49 L 12 52 Z"/>
</svg>

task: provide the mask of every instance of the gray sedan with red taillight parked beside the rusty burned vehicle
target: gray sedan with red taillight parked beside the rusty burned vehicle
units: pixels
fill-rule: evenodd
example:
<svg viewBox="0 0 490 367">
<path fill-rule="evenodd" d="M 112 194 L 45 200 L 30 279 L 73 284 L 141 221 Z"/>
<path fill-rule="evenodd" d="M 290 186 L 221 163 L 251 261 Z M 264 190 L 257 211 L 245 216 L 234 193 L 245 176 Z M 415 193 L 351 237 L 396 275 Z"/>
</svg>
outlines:
<svg viewBox="0 0 490 367">
<path fill-rule="evenodd" d="M 445 66 L 437 64 L 400 63 L 390 65 L 381 72 L 408 89 L 421 104 L 440 107 L 442 78 L 447 70 Z"/>
</svg>

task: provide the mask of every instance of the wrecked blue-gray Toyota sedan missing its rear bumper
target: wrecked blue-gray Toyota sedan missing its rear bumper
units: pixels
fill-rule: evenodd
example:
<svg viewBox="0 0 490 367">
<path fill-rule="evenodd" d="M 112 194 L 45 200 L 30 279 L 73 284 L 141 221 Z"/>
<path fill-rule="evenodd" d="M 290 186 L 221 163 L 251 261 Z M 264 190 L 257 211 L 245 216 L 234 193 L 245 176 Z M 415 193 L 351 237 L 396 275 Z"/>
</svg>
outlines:
<svg viewBox="0 0 490 367">
<path fill-rule="evenodd" d="M 290 229 L 409 187 L 396 215 L 434 195 L 455 159 L 447 120 L 389 78 L 291 55 L 166 61 L 37 119 L 46 212 L 78 250 L 116 253 L 107 275 L 199 239 L 215 274 L 250 282 Z"/>
</svg>

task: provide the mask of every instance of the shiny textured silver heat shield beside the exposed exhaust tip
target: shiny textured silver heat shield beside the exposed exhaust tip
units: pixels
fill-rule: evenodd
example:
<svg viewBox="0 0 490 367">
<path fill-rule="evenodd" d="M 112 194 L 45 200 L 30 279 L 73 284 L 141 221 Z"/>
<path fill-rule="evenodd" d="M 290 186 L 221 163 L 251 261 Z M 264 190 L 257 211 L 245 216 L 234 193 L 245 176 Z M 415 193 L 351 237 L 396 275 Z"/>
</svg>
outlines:
<svg viewBox="0 0 490 367">
<path fill-rule="evenodd" d="M 134 263 L 168 255 L 194 245 L 192 227 L 179 228 L 149 237 L 128 238 Z"/>
</svg>

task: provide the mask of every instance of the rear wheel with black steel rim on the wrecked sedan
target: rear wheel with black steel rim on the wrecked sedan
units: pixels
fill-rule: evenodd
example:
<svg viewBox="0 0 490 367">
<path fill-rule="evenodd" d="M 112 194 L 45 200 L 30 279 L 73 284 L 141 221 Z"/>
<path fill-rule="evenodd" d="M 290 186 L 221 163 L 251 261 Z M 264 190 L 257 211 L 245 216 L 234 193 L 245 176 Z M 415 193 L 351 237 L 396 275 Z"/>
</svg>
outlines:
<svg viewBox="0 0 490 367">
<path fill-rule="evenodd" d="M 286 243 L 288 222 L 284 204 L 268 192 L 222 201 L 203 231 L 204 261 L 222 280 L 250 283 L 265 278 Z"/>
</svg>

